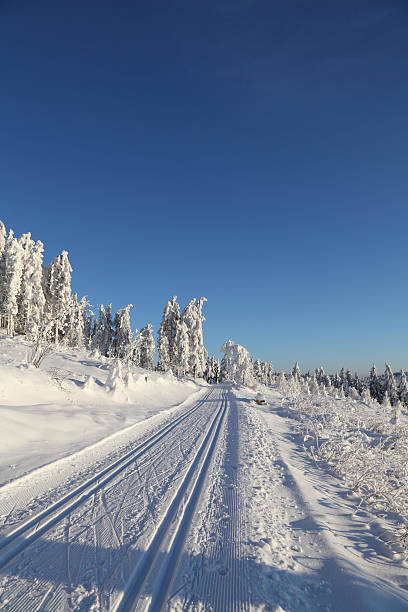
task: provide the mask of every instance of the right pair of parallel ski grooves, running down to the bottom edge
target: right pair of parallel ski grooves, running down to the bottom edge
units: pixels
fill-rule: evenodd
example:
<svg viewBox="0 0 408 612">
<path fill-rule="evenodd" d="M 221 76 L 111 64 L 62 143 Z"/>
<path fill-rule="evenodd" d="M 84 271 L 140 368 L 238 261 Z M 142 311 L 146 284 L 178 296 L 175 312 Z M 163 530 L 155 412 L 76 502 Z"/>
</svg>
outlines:
<svg viewBox="0 0 408 612">
<path fill-rule="evenodd" d="M 224 392 L 221 406 L 196 451 L 178 490 L 175 492 L 168 510 L 158 525 L 153 539 L 130 575 L 122 598 L 114 608 L 115 612 L 134 612 L 139 609 L 140 603 L 143 610 L 149 612 L 158 612 L 164 609 L 208 467 L 225 420 L 227 405 L 227 396 Z M 166 542 L 170 542 L 168 547 L 164 546 Z M 163 548 L 167 548 L 167 550 L 164 552 Z M 164 553 L 163 561 L 157 567 L 160 553 Z M 144 597 L 143 589 L 153 575 L 152 595 L 151 597 L 148 596 L 147 602 L 143 604 L 140 602 L 140 598 Z"/>
</svg>

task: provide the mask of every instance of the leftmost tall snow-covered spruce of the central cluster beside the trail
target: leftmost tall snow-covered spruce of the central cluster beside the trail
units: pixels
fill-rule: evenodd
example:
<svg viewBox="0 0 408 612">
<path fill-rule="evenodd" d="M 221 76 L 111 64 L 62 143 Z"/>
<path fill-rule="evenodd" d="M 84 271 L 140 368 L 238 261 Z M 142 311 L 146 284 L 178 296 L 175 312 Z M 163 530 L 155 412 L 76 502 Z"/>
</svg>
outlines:
<svg viewBox="0 0 408 612">
<path fill-rule="evenodd" d="M 157 369 L 165 372 L 169 368 L 177 368 L 177 334 L 180 321 L 180 306 L 177 295 L 169 300 L 163 310 L 162 322 L 158 331 L 157 348 L 159 360 Z M 165 340 L 166 338 L 166 340 Z"/>
</svg>

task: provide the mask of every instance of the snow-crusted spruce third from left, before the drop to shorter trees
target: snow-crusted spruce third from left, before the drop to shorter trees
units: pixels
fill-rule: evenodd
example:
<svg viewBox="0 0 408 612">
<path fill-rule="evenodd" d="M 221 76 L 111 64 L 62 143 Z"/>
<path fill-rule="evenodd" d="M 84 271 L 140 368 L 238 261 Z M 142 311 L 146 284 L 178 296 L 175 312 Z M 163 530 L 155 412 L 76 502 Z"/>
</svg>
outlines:
<svg viewBox="0 0 408 612">
<path fill-rule="evenodd" d="M 48 321 L 55 321 L 52 330 L 55 343 L 64 338 L 66 316 L 72 306 L 71 272 L 67 251 L 62 251 L 54 257 L 44 270 L 45 316 Z"/>
</svg>

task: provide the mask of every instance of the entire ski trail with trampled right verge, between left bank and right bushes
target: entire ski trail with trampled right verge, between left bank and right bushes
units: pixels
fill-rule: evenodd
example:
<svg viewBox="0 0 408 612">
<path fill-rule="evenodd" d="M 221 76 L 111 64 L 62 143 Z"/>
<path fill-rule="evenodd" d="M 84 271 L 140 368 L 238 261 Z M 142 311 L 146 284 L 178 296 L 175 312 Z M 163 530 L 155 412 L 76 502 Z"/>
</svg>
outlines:
<svg viewBox="0 0 408 612">
<path fill-rule="evenodd" d="M 253 396 L 205 387 L 76 480 L 73 455 L 2 487 L 0 609 L 407 610 L 374 517 L 308 459 L 282 397 Z"/>
</svg>

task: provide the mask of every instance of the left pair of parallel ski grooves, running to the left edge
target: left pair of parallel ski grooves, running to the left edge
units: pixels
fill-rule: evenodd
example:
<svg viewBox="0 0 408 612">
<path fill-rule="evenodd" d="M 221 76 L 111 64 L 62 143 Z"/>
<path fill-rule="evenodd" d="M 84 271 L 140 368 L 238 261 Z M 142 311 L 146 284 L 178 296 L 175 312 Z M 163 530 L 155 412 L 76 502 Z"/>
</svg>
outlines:
<svg viewBox="0 0 408 612">
<path fill-rule="evenodd" d="M 170 431 L 188 419 L 190 415 L 196 412 L 208 400 L 211 393 L 212 390 L 208 391 L 192 408 L 188 409 L 170 423 L 167 423 L 167 425 L 159 429 L 144 442 L 137 445 L 133 450 L 127 452 L 123 457 L 120 457 L 100 470 L 92 476 L 92 478 L 89 478 L 80 486 L 75 487 L 75 489 L 61 497 L 58 501 L 48 506 L 48 508 L 45 508 L 4 536 L 0 540 L 0 550 L 5 549 L 0 555 L 0 570 L 32 544 L 32 542 L 49 531 L 49 529 L 61 521 L 72 510 L 80 506 L 91 495 L 102 489 L 106 483 L 125 470 L 132 462 L 144 455 Z M 45 522 L 40 525 L 42 521 Z"/>
</svg>

